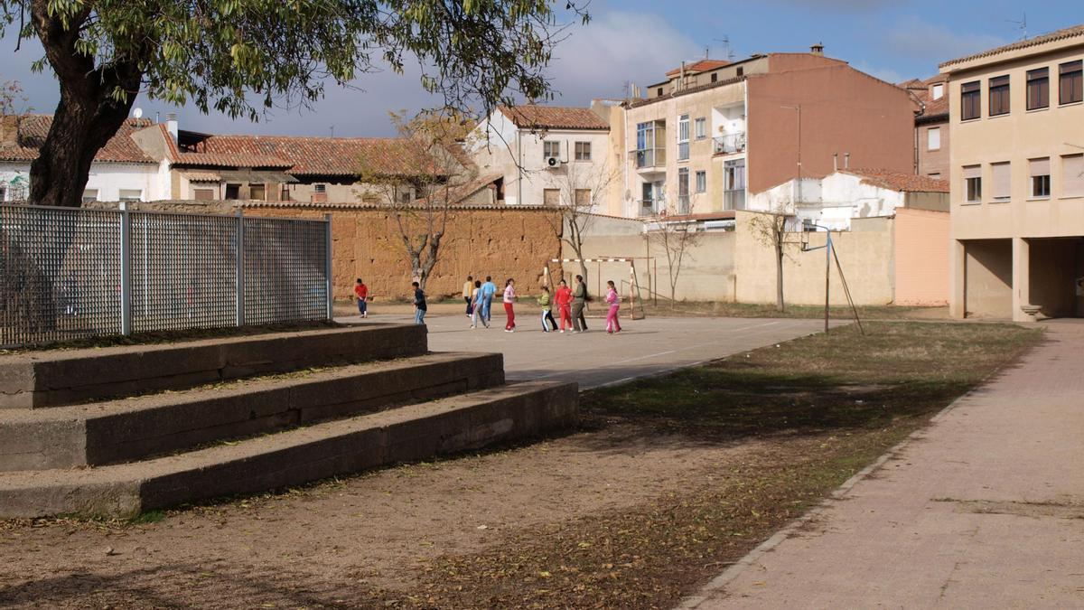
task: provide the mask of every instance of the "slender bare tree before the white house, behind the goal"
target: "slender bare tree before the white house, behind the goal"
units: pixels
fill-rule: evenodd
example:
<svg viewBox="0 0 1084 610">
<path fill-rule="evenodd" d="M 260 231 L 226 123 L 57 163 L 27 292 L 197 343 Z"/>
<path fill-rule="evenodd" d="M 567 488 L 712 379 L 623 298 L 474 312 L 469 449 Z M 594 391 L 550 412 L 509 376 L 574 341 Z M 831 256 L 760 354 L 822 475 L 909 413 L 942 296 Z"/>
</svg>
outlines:
<svg viewBox="0 0 1084 610">
<path fill-rule="evenodd" d="M 588 267 L 583 263 L 583 241 L 597 217 L 599 206 L 617 180 L 618 171 L 605 160 L 597 167 L 590 164 L 566 163 L 560 169 L 543 171 L 547 173 L 546 185 L 557 191 L 557 205 L 560 209 L 558 216 L 546 219 L 554 234 L 567 243 L 580 259 L 580 275 L 586 284 Z"/>
</svg>

